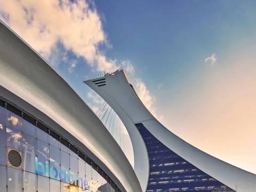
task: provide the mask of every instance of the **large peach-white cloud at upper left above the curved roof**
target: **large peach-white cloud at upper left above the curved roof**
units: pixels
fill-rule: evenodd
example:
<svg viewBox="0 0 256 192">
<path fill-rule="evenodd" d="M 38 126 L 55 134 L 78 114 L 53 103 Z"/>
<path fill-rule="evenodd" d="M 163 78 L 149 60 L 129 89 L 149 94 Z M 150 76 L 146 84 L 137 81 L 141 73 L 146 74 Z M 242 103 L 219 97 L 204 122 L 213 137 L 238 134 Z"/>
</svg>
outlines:
<svg viewBox="0 0 256 192">
<path fill-rule="evenodd" d="M 0 4 L 0 18 L 45 59 L 55 56 L 60 43 L 98 71 L 117 68 L 115 60 L 99 51 L 99 45 L 109 46 L 109 43 L 93 3 L 84 0 L 0 0 Z"/>
</svg>

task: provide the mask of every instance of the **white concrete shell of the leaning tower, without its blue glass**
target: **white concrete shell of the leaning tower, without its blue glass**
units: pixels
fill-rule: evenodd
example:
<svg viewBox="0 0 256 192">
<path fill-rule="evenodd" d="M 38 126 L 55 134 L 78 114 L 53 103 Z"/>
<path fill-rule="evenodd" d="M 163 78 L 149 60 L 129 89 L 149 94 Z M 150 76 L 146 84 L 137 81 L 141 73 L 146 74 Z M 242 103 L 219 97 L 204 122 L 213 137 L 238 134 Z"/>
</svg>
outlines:
<svg viewBox="0 0 256 192">
<path fill-rule="evenodd" d="M 239 169 L 236 166 L 204 153 L 202 150 L 191 146 L 186 141 L 177 137 L 177 135 L 159 123 L 140 101 L 124 70 L 117 70 L 113 74 L 106 74 L 104 77 L 90 79 L 84 83 L 97 92 L 116 111 L 117 115 L 123 121 L 132 141 L 134 170 L 143 191 L 147 190 L 150 167 L 145 142 L 136 126 L 138 124 L 143 124 L 158 141 L 161 141 L 163 145 L 171 149 L 175 154 L 178 154 L 187 162 L 227 187 L 233 190 L 237 188 L 237 191 L 242 192 L 256 191 L 255 174 Z M 160 190 L 161 188 L 158 189 Z M 204 187 L 197 187 L 195 189 L 206 191 Z M 210 189 L 210 187 L 207 189 Z M 173 190 L 175 188 L 169 189 L 169 191 Z M 181 188 L 177 188 L 176 190 L 181 191 Z"/>
</svg>

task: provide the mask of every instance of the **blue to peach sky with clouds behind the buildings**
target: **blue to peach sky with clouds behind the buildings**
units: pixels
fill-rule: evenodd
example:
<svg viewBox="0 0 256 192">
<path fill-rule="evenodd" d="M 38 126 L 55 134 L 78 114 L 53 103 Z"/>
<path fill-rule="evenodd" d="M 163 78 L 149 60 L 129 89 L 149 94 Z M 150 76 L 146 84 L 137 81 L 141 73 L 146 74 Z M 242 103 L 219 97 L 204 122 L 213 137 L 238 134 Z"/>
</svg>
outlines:
<svg viewBox="0 0 256 192">
<path fill-rule="evenodd" d="M 93 110 L 102 100 L 83 79 L 122 67 L 173 133 L 256 173 L 255 7 L 253 0 L 0 0 L 0 18 Z M 132 162 L 127 135 L 125 142 Z"/>
</svg>

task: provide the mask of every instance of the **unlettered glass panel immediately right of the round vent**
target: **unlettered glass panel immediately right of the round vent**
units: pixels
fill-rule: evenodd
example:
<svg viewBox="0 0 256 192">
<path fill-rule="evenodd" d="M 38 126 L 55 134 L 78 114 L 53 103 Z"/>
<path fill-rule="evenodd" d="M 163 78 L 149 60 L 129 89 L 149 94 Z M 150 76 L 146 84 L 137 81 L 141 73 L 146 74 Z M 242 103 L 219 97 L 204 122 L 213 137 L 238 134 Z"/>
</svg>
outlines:
<svg viewBox="0 0 256 192">
<path fill-rule="evenodd" d="M 35 146 L 35 138 L 23 134 L 23 167 L 25 171 L 33 173 L 35 172 Z"/>
</svg>

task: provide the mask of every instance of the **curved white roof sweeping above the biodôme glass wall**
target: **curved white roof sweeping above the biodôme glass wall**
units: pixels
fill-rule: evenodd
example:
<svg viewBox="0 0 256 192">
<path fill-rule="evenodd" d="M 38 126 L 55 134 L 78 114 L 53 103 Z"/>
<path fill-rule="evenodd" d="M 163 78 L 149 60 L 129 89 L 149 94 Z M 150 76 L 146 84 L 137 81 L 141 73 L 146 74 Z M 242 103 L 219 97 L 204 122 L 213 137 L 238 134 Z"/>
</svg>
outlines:
<svg viewBox="0 0 256 192">
<path fill-rule="evenodd" d="M 2 22 L 0 79 L 0 87 L 42 111 L 89 148 L 118 178 L 121 190 L 141 191 L 132 166 L 98 117 L 63 78 Z"/>
</svg>

